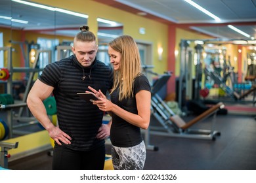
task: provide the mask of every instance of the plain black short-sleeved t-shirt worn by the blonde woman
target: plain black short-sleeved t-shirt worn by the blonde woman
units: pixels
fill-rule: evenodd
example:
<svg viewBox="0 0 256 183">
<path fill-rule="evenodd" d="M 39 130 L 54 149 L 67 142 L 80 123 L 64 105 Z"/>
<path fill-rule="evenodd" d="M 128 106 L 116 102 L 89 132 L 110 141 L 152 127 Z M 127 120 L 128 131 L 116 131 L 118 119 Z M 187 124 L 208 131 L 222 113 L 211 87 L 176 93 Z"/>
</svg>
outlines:
<svg viewBox="0 0 256 183">
<path fill-rule="evenodd" d="M 111 94 L 111 101 L 112 103 L 115 103 L 124 110 L 127 110 L 133 114 L 138 114 L 135 95 L 140 90 L 146 90 L 149 92 L 151 91 L 150 84 L 145 75 L 140 75 L 135 78 L 133 97 L 119 101 L 119 90 L 117 89 Z M 140 128 L 135 125 L 129 124 L 129 122 L 126 122 L 116 114 L 113 114 L 112 125 L 110 129 L 110 140 L 114 146 L 118 147 L 136 146 L 137 144 L 142 142 Z"/>
</svg>

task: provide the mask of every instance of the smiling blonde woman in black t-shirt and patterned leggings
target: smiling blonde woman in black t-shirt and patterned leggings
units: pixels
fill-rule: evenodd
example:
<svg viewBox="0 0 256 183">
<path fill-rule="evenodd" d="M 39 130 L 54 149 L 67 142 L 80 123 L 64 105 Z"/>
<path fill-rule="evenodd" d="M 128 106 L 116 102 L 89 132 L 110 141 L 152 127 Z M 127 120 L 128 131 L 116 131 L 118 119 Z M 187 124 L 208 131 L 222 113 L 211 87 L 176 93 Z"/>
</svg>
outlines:
<svg viewBox="0 0 256 183">
<path fill-rule="evenodd" d="M 114 67 L 111 101 L 100 90 L 89 87 L 100 97 L 93 104 L 112 116 L 114 169 L 143 169 L 146 146 L 140 128 L 147 129 L 150 123 L 150 84 L 141 72 L 139 49 L 131 36 L 122 35 L 111 41 L 108 54 Z"/>
</svg>

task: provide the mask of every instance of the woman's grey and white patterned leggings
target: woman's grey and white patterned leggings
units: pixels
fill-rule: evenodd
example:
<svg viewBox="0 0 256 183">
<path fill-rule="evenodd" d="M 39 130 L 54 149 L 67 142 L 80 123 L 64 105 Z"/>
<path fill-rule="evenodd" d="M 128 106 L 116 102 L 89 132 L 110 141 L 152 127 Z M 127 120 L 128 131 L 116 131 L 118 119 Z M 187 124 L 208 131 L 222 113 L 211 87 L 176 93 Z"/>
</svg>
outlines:
<svg viewBox="0 0 256 183">
<path fill-rule="evenodd" d="M 146 161 L 144 141 L 129 148 L 112 146 L 112 162 L 115 170 L 142 170 Z"/>
</svg>

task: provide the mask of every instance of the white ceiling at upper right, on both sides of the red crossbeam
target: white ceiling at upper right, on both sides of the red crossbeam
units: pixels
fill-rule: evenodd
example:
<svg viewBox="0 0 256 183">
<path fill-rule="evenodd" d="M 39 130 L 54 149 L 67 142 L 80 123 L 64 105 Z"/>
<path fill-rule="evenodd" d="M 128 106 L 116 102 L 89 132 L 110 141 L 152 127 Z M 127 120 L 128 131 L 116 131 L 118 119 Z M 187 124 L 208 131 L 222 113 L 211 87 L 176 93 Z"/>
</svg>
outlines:
<svg viewBox="0 0 256 183">
<path fill-rule="evenodd" d="M 104 3 L 104 0 L 100 2 Z M 184 0 L 116 0 L 116 2 L 181 27 L 187 25 L 190 29 L 213 37 L 247 39 L 226 26 L 231 24 L 256 39 L 256 0 L 194 0 L 194 3 L 221 18 L 221 22 L 215 22 L 213 18 Z"/>
</svg>

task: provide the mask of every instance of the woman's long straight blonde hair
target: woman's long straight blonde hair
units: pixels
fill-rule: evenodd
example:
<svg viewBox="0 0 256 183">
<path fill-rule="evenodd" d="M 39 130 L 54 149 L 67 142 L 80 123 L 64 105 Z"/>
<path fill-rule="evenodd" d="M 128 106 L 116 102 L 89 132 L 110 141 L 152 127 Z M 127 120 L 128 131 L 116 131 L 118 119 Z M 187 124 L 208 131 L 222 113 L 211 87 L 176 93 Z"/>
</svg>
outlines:
<svg viewBox="0 0 256 183">
<path fill-rule="evenodd" d="M 137 76 L 142 74 L 137 43 L 134 41 L 133 37 L 121 35 L 111 41 L 109 46 L 121 53 L 119 70 L 114 71 L 114 86 L 112 92 L 119 87 L 120 101 L 128 97 L 133 97 L 133 82 Z"/>
</svg>

